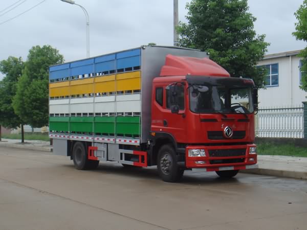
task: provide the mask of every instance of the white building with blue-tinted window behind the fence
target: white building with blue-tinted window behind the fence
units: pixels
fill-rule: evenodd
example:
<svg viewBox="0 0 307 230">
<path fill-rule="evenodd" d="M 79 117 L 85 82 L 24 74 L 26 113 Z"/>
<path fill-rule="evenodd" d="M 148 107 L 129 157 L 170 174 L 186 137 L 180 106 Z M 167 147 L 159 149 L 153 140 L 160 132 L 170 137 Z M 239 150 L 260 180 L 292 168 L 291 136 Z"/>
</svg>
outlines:
<svg viewBox="0 0 307 230">
<path fill-rule="evenodd" d="M 268 70 L 266 88 L 258 91 L 259 108 L 296 107 L 307 101 L 307 92 L 299 88 L 300 50 L 269 54 L 258 62 Z"/>
</svg>

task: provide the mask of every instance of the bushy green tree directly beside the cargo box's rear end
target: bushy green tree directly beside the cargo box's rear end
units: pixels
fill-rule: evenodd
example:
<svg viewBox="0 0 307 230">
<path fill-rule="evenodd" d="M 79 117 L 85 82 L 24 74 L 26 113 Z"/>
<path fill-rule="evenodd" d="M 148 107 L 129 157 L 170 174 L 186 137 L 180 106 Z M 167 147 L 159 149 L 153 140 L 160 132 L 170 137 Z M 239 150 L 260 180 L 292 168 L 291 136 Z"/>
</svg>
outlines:
<svg viewBox="0 0 307 230">
<path fill-rule="evenodd" d="M 13 98 L 14 111 L 26 124 L 32 127 L 48 125 L 49 66 L 63 61 L 63 56 L 50 45 L 36 45 L 29 51 Z"/>
</svg>

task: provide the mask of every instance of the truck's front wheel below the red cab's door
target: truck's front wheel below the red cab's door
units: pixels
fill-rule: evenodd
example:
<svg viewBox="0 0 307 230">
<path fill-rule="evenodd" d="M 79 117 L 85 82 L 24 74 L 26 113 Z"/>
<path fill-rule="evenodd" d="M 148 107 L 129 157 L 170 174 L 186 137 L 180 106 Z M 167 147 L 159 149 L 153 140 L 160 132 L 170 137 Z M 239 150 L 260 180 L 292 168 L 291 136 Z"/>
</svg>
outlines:
<svg viewBox="0 0 307 230">
<path fill-rule="evenodd" d="M 164 145 L 159 150 L 157 167 L 159 176 L 166 182 L 179 181 L 184 172 L 178 167 L 176 152 L 170 145 Z"/>
</svg>

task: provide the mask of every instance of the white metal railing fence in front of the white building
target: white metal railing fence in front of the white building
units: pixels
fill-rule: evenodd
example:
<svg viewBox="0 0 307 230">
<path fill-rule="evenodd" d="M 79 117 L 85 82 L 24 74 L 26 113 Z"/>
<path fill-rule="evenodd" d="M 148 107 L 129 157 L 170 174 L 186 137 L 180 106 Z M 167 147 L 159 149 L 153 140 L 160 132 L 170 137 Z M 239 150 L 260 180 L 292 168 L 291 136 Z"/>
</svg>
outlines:
<svg viewBox="0 0 307 230">
<path fill-rule="evenodd" d="M 255 118 L 257 137 L 303 138 L 303 106 L 259 108 Z"/>
</svg>

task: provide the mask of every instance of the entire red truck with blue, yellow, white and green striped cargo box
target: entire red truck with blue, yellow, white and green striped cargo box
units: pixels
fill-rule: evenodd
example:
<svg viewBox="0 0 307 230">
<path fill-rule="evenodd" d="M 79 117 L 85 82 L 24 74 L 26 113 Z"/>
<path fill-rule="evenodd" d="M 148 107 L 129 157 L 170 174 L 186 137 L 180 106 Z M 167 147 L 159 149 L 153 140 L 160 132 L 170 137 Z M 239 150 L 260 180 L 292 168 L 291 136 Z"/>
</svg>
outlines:
<svg viewBox="0 0 307 230">
<path fill-rule="evenodd" d="M 232 177 L 256 167 L 250 79 L 198 50 L 146 46 L 50 67 L 53 151 L 77 169 L 99 161 Z"/>
</svg>

